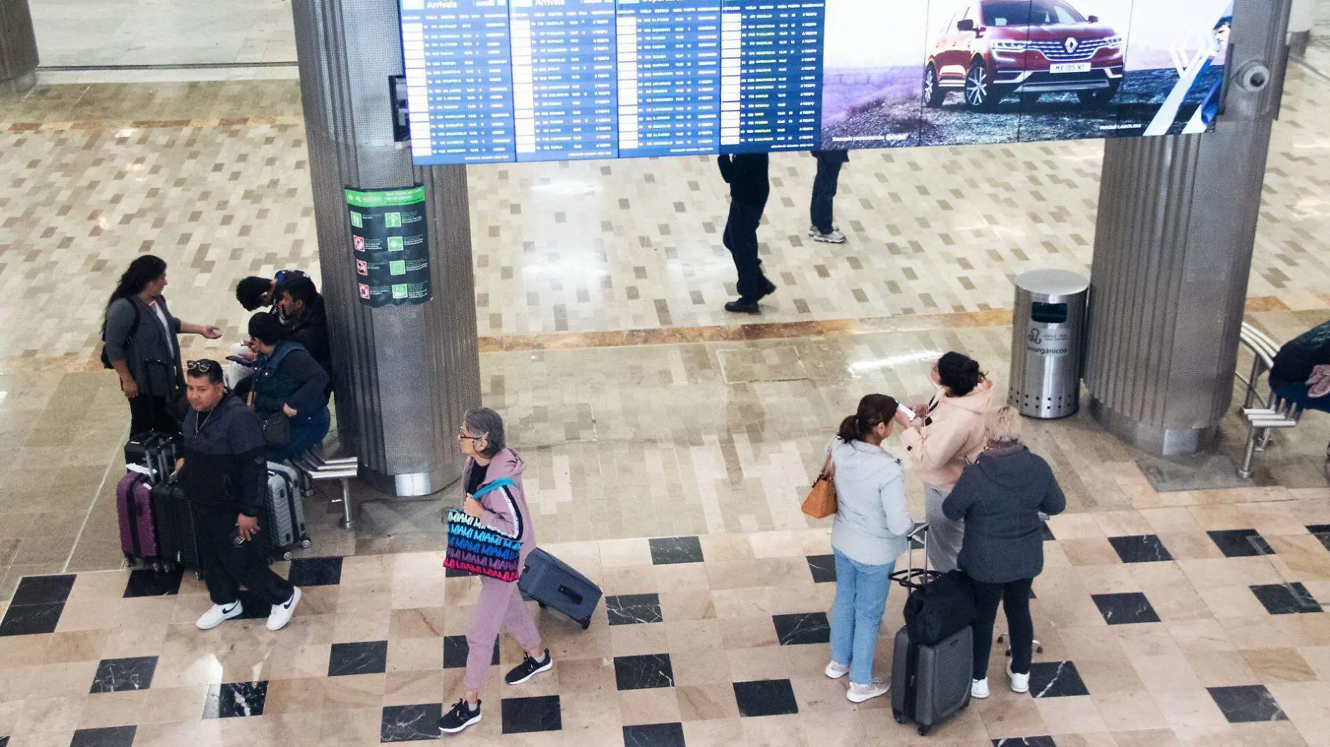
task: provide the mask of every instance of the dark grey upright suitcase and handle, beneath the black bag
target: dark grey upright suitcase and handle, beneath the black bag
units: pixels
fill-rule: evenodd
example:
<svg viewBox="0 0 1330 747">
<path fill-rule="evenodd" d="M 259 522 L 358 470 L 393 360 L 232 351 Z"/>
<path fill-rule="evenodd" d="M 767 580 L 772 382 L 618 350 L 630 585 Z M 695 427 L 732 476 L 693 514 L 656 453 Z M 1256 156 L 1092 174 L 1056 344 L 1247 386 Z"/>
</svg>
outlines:
<svg viewBox="0 0 1330 747">
<path fill-rule="evenodd" d="M 920 534 L 923 570 L 914 568 L 914 540 Z M 916 526 L 910 538 L 910 569 L 892 574 L 907 589 L 936 574 L 928 570 L 928 525 Z M 891 659 L 891 715 L 896 723 L 912 722 L 919 736 L 926 736 L 935 724 L 968 707 L 974 650 L 974 629 L 968 625 L 932 645 L 911 641 L 908 626 L 902 626 Z"/>
</svg>

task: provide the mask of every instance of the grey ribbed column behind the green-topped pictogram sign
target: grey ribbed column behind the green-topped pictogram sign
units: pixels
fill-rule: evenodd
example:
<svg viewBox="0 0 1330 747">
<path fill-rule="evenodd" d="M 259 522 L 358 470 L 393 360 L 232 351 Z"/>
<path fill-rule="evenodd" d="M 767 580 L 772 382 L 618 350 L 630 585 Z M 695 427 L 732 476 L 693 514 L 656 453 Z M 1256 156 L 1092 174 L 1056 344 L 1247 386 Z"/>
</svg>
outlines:
<svg viewBox="0 0 1330 747">
<path fill-rule="evenodd" d="M 403 72 L 396 0 L 294 0 L 314 215 L 329 306 L 338 433 L 371 485 L 398 496 L 460 475 L 462 413 L 480 403 L 464 166 L 411 166 L 392 140 Z M 359 303 L 343 189 L 426 187 L 432 299 Z"/>
</svg>

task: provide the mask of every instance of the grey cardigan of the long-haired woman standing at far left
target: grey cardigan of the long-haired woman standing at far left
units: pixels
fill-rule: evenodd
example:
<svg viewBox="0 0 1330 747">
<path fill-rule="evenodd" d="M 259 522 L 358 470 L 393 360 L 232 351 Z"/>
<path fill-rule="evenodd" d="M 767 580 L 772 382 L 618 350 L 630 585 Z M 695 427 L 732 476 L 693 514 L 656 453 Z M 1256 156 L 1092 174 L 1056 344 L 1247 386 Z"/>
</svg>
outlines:
<svg viewBox="0 0 1330 747">
<path fill-rule="evenodd" d="M 172 334 L 162 330 L 157 312 L 137 295 L 122 298 L 106 307 L 106 359 L 124 360 L 141 393 L 174 400 L 185 388 L 180 364 L 180 319 L 166 308 L 166 299 L 158 298 Z M 134 307 L 138 307 L 138 327 L 134 328 Z M 133 339 L 130 339 L 133 338 Z M 161 362 L 162 364 L 149 364 Z"/>
</svg>

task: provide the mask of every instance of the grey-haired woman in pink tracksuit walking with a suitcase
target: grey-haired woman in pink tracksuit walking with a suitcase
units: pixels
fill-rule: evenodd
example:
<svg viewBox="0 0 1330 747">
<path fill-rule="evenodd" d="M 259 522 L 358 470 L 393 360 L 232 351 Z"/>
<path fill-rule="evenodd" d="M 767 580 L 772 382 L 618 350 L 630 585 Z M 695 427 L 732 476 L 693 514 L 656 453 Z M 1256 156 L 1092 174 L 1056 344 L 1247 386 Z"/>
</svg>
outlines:
<svg viewBox="0 0 1330 747">
<path fill-rule="evenodd" d="M 521 473 L 527 465 L 517 452 L 504 445 L 503 419 L 483 407 L 467 411 L 458 443 L 462 453 L 467 455 L 467 467 L 462 473 L 467 492 L 463 509 L 485 526 L 521 538 L 519 568 L 525 568 L 527 556 L 536 549 L 536 532 L 531 526 L 531 512 L 521 489 Z M 487 489 L 499 480 L 511 484 Z M 476 494 L 480 497 L 473 497 Z M 508 685 L 521 685 L 555 665 L 549 649 L 540 645 L 540 631 L 521 601 L 517 582 L 481 576 L 480 601 L 467 631 L 467 674 L 462 681 L 466 693 L 439 719 L 439 728 L 446 734 L 456 734 L 480 720 L 480 691 L 489 681 L 489 661 L 500 626 L 527 651 L 523 662 L 504 677 Z"/>
</svg>

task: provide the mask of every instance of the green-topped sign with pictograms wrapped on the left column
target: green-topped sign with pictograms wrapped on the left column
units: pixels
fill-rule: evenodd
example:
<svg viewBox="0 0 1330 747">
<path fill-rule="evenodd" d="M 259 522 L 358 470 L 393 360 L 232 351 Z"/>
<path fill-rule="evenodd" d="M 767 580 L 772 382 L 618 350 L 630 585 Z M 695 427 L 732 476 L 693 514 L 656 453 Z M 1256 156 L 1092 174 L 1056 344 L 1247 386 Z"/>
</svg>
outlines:
<svg viewBox="0 0 1330 747">
<path fill-rule="evenodd" d="M 366 306 L 430 300 L 424 187 L 346 190 L 355 283 Z"/>
</svg>

